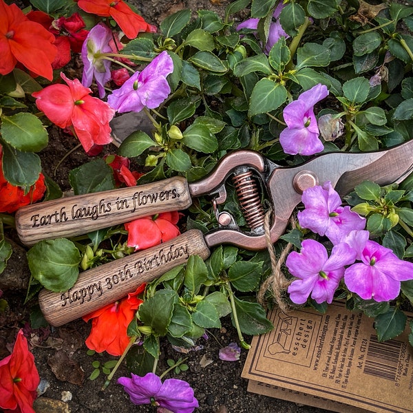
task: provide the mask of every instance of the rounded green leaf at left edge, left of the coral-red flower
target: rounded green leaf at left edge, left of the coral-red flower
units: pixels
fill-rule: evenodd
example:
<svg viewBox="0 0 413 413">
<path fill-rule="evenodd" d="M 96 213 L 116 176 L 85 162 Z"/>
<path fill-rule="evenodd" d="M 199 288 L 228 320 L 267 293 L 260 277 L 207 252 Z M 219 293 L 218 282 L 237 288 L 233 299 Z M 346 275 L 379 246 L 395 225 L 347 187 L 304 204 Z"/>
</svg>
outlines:
<svg viewBox="0 0 413 413">
<path fill-rule="evenodd" d="M 36 116 L 24 112 L 1 117 L 1 136 L 19 151 L 39 152 L 47 147 L 48 135 Z"/>
</svg>

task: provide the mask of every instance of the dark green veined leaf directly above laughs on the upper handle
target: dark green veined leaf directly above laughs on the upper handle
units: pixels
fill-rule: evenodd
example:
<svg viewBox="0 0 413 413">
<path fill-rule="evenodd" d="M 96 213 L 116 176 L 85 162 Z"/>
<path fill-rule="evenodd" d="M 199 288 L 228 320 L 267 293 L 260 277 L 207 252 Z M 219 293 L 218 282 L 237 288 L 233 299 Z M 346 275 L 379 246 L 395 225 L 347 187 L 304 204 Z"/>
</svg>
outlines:
<svg viewBox="0 0 413 413">
<path fill-rule="evenodd" d="M 75 195 L 109 191 L 115 188 L 112 168 L 104 159 L 92 160 L 72 169 L 69 173 L 69 181 Z"/>
</svg>

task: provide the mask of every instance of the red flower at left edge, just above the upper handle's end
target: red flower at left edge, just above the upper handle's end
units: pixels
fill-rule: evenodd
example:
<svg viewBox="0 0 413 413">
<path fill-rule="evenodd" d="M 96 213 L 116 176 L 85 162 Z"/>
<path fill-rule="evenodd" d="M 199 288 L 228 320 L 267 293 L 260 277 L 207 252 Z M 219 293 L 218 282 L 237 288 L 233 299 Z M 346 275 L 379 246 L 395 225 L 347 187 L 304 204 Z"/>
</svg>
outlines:
<svg viewBox="0 0 413 413">
<path fill-rule="evenodd" d="M 41 200 L 46 190 L 43 173 L 40 174 L 36 183 L 30 187 L 30 191 L 25 194 L 21 187 L 14 187 L 4 178 L 1 151 L 0 147 L 0 212 L 13 213 L 25 205 Z"/>
</svg>

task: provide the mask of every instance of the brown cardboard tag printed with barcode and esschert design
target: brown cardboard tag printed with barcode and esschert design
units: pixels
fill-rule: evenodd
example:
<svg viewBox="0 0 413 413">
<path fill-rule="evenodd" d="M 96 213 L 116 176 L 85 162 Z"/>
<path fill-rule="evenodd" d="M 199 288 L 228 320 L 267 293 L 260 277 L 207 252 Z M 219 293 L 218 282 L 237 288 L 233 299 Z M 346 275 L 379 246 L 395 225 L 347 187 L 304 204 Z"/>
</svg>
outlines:
<svg viewBox="0 0 413 413">
<path fill-rule="evenodd" d="M 339 301 L 326 314 L 310 308 L 286 314 L 277 308 L 268 319 L 274 329 L 253 338 L 242 377 L 369 412 L 413 412 L 407 329 L 380 343 L 374 319 Z"/>
</svg>

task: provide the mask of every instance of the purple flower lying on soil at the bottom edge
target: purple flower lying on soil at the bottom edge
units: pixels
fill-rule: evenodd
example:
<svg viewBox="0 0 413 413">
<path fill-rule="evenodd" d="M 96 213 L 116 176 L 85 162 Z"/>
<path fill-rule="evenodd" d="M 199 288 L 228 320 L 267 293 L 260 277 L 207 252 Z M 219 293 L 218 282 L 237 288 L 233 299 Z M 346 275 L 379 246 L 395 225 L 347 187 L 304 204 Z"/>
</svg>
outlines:
<svg viewBox="0 0 413 413">
<path fill-rule="evenodd" d="M 130 379 L 119 377 L 118 383 L 123 385 L 131 402 L 136 405 L 165 407 L 173 413 L 192 413 L 198 407 L 198 400 L 186 381 L 167 379 L 162 383 L 160 377 L 153 373 L 144 377 L 131 373 Z"/>
</svg>

